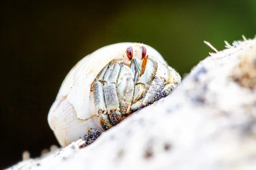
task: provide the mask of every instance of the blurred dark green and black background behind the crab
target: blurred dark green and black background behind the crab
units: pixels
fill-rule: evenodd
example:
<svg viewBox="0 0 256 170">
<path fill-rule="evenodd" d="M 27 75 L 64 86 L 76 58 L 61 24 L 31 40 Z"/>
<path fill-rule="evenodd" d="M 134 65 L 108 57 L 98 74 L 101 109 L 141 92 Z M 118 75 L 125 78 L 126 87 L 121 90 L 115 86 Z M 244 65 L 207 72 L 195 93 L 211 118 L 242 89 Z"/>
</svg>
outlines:
<svg viewBox="0 0 256 170">
<path fill-rule="evenodd" d="M 47 114 L 82 57 L 116 42 L 151 45 L 188 73 L 224 40 L 256 34 L 256 0 L 13 1 L 1 5 L 1 164 L 57 144 Z"/>
</svg>

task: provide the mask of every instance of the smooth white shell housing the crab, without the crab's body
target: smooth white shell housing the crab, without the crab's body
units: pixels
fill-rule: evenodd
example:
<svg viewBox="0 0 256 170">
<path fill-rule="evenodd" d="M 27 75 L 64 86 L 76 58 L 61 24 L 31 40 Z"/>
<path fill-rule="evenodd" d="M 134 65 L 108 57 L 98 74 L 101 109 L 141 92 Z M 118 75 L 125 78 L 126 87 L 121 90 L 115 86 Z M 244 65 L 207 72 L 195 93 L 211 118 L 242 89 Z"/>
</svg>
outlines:
<svg viewBox="0 0 256 170">
<path fill-rule="evenodd" d="M 99 132 L 104 131 L 97 121 L 90 85 L 108 62 L 113 59 L 122 61 L 126 57 L 128 46 L 133 47 L 136 57 L 141 45 L 145 46 L 148 55 L 165 62 L 163 57 L 148 45 L 122 42 L 102 47 L 87 55 L 67 74 L 48 114 L 49 126 L 62 147 L 83 138 L 91 128 L 96 128 Z"/>
</svg>

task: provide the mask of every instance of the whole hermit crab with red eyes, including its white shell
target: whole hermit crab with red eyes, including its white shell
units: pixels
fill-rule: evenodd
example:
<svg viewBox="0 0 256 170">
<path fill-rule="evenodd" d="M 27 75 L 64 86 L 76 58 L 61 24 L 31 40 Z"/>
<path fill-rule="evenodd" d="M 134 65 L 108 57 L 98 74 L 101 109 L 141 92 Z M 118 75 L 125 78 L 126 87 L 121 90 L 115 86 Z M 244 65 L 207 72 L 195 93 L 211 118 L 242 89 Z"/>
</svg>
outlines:
<svg viewBox="0 0 256 170">
<path fill-rule="evenodd" d="M 105 46 L 81 59 L 67 74 L 50 108 L 49 126 L 64 147 L 111 128 L 170 94 L 180 81 L 180 75 L 149 45 Z M 91 135 L 87 141 L 96 137 Z"/>
</svg>

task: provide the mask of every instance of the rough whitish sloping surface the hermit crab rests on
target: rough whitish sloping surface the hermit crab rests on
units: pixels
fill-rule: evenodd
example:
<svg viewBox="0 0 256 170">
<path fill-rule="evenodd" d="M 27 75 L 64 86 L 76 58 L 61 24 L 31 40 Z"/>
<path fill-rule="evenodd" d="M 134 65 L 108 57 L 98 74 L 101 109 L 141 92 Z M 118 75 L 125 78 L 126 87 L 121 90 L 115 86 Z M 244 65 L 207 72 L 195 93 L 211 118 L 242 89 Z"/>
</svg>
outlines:
<svg viewBox="0 0 256 170">
<path fill-rule="evenodd" d="M 256 40 L 201 61 L 181 85 L 88 147 L 10 169 L 256 169 Z"/>
</svg>

